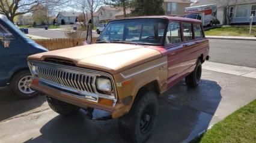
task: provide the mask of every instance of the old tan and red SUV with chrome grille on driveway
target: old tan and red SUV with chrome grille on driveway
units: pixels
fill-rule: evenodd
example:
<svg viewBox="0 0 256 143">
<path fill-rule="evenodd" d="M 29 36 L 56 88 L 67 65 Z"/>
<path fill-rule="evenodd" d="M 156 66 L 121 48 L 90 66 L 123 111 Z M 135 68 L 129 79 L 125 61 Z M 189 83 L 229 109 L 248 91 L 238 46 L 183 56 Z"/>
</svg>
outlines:
<svg viewBox="0 0 256 143">
<path fill-rule="evenodd" d="M 186 79 L 200 83 L 209 41 L 200 20 L 132 17 L 108 23 L 96 44 L 29 56 L 31 87 L 53 111 L 111 112 L 123 138 L 145 142 L 158 114 L 157 95 Z"/>
</svg>

